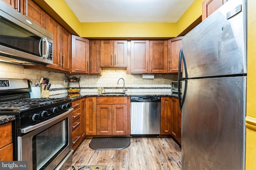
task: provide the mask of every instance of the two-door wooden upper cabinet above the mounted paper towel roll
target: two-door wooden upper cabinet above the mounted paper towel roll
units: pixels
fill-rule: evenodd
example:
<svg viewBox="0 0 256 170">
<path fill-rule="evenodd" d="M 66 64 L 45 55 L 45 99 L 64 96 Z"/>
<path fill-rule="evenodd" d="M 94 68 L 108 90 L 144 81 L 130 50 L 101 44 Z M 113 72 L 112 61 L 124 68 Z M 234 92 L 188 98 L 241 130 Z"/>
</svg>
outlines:
<svg viewBox="0 0 256 170">
<path fill-rule="evenodd" d="M 167 73 L 167 41 L 131 41 L 130 72 Z"/>
</svg>

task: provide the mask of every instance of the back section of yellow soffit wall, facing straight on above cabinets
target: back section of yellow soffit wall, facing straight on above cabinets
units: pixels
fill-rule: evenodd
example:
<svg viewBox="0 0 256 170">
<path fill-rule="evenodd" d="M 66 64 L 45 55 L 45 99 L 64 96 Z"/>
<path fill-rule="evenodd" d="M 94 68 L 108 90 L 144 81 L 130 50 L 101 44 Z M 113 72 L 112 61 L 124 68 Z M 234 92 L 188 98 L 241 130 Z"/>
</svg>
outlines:
<svg viewBox="0 0 256 170">
<path fill-rule="evenodd" d="M 176 23 L 82 23 L 81 37 L 176 37 Z"/>
</svg>

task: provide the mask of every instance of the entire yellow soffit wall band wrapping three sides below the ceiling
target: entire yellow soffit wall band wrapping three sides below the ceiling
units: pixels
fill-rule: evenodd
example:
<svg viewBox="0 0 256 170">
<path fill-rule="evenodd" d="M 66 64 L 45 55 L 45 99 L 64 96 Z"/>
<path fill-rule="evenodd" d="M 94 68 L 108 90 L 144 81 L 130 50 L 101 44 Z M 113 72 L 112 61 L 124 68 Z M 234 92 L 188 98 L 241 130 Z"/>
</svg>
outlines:
<svg viewBox="0 0 256 170">
<path fill-rule="evenodd" d="M 80 23 L 64 0 L 44 0 L 80 37 L 176 37 L 202 15 L 195 0 L 177 23 Z"/>
</svg>

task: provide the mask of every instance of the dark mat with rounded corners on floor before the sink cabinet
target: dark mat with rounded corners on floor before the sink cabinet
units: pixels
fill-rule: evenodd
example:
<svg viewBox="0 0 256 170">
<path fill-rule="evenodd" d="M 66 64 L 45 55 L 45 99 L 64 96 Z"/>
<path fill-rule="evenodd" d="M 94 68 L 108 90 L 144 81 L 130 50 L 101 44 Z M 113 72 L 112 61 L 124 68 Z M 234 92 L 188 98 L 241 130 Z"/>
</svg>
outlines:
<svg viewBox="0 0 256 170">
<path fill-rule="evenodd" d="M 95 150 L 120 150 L 129 147 L 130 137 L 95 137 L 89 144 Z"/>
</svg>

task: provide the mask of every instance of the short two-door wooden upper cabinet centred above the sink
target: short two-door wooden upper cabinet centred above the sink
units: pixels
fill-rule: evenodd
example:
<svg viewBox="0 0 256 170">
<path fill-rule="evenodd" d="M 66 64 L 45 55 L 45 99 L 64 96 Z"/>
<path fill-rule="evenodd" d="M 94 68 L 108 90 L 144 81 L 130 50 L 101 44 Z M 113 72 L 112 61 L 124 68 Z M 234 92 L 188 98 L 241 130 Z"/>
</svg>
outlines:
<svg viewBox="0 0 256 170">
<path fill-rule="evenodd" d="M 127 41 L 101 40 L 100 67 L 127 67 Z"/>
</svg>

